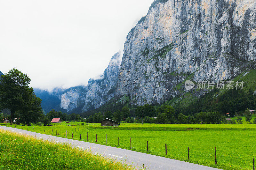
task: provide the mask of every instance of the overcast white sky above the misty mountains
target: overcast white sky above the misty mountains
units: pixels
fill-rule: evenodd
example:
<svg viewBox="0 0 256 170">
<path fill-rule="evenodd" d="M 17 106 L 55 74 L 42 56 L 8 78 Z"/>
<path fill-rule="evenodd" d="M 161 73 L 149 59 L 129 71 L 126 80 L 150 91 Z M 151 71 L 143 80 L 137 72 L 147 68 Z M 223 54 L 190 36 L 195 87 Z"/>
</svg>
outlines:
<svg viewBox="0 0 256 170">
<path fill-rule="evenodd" d="M 41 89 L 87 85 L 152 2 L 0 0 L 0 70 L 28 73 Z"/>
</svg>

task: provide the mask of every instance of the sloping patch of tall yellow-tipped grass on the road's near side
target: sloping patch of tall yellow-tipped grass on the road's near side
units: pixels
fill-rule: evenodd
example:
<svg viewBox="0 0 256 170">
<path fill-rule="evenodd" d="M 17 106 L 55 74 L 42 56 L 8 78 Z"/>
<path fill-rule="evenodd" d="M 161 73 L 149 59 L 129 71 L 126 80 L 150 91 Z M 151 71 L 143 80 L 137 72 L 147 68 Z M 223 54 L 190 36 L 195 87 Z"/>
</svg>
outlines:
<svg viewBox="0 0 256 170">
<path fill-rule="evenodd" d="M 1 169 L 132 169 L 68 144 L 54 144 L 0 130 Z"/>
</svg>

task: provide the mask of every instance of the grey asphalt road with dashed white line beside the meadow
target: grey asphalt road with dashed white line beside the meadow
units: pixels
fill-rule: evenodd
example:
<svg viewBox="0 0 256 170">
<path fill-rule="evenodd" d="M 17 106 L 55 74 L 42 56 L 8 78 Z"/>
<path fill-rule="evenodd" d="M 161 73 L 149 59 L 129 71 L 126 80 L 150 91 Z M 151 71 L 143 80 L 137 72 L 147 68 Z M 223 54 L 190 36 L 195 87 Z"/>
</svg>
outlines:
<svg viewBox="0 0 256 170">
<path fill-rule="evenodd" d="M 168 170 L 168 169 L 181 169 L 181 170 L 207 170 L 207 169 L 216 169 L 208 166 L 197 165 L 189 162 L 184 162 L 175 159 L 164 158 L 160 156 L 150 155 L 141 152 L 130 151 L 121 148 L 115 148 L 111 146 L 105 146 L 100 144 L 94 144 L 89 142 L 83 142 L 73 139 L 67 139 L 62 137 L 55 137 L 51 135 L 45 135 L 41 133 L 35 133 L 27 130 L 11 128 L 6 126 L 0 126 L 0 128 L 11 131 L 17 132 L 20 134 L 26 134 L 31 137 L 36 137 L 42 140 L 49 140 L 54 141 L 55 143 L 68 143 L 72 144 L 77 148 L 88 150 L 90 149 L 92 153 L 96 153 L 99 155 L 103 155 L 105 157 L 110 157 L 111 159 L 121 160 L 125 163 L 132 164 L 132 166 L 141 168 L 144 164 L 144 169 L 153 169 L 153 170 Z M 36 135 L 36 136 L 35 136 Z M 214 161 L 214 160 L 213 160 Z"/>
</svg>

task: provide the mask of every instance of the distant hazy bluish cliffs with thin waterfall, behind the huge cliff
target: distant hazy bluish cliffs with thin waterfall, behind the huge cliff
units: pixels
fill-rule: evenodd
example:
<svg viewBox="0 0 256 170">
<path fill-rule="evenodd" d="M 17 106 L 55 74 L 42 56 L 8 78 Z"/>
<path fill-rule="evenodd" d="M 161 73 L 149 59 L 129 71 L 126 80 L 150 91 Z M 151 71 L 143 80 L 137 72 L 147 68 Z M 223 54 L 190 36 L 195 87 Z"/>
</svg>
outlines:
<svg viewBox="0 0 256 170">
<path fill-rule="evenodd" d="M 67 90 L 55 88 L 53 95 L 60 99 L 60 109 L 67 112 L 83 112 L 100 107 L 114 97 L 120 69 L 120 52 L 110 60 L 100 79 L 89 79 L 87 86 L 71 87 Z M 79 108 L 79 110 L 77 110 Z"/>
</svg>

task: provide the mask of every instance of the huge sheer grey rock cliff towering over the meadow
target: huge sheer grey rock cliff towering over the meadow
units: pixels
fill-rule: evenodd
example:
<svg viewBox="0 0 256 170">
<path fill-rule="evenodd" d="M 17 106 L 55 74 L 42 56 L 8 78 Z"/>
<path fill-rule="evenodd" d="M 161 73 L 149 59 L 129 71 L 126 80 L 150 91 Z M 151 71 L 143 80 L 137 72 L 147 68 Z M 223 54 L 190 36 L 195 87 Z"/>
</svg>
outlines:
<svg viewBox="0 0 256 170">
<path fill-rule="evenodd" d="M 255 68 L 256 0 L 161 0 L 127 35 L 116 97 L 161 103 L 184 82 L 217 82 Z"/>
</svg>

